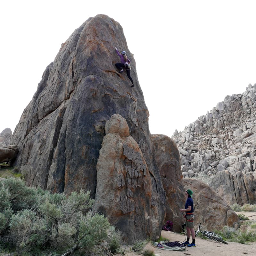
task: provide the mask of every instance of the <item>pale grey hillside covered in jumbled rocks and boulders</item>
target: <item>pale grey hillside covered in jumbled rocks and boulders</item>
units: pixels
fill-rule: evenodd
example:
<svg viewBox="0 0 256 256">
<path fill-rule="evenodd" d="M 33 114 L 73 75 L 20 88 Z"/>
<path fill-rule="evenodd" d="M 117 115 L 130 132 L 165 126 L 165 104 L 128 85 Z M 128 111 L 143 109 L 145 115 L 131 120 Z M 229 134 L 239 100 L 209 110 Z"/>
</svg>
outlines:
<svg viewBox="0 0 256 256">
<path fill-rule="evenodd" d="M 256 203 L 256 84 L 249 84 L 242 94 L 226 96 L 210 112 L 185 127 L 183 132 L 176 130 L 172 139 L 180 152 L 183 177 L 204 176 L 210 186 L 212 184 L 218 189 L 220 179 L 216 182 L 217 178 L 213 177 L 226 171 L 230 175 L 229 182 L 235 183 L 231 185 L 233 190 L 238 186 L 235 198 L 226 198 L 228 203 Z M 242 175 L 238 175 L 240 172 Z M 245 182 L 247 173 L 249 183 Z M 238 175 L 240 181 L 236 181 L 234 175 Z M 222 185 L 224 196 L 227 184 Z M 239 200 L 243 191 L 244 200 Z M 250 194 L 253 195 L 252 200 L 249 199 Z"/>
</svg>

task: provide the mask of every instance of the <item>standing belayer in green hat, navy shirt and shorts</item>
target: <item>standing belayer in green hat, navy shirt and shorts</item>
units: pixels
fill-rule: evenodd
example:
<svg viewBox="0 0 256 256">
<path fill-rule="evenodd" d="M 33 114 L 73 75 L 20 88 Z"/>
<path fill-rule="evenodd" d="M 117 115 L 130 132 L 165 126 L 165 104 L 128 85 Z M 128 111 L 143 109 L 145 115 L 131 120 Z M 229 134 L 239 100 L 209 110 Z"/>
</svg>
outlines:
<svg viewBox="0 0 256 256">
<path fill-rule="evenodd" d="M 187 229 L 188 239 L 184 244 L 186 244 L 188 247 L 196 247 L 196 243 L 195 243 L 196 235 L 195 235 L 195 229 L 194 229 L 194 215 L 193 215 L 194 202 L 192 199 L 192 194 L 193 194 L 193 192 L 190 189 L 185 191 L 185 195 L 187 196 L 185 209 L 180 209 L 180 212 L 186 213 L 186 229 Z M 192 235 L 192 243 L 191 244 L 189 243 L 190 233 Z"/>
</svg>

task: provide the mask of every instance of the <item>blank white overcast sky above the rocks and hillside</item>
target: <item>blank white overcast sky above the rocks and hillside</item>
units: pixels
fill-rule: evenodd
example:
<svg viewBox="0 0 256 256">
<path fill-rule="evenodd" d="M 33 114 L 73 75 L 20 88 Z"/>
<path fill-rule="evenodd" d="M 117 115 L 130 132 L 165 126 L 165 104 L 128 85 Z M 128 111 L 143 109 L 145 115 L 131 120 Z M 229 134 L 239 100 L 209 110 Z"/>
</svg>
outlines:
<svg viewBox="0 0 256 256">
<path fill-rule="evenodd" d="M 151 134 L 171 137 L 256 83 L 256 1 L 23 0 L 0 8 L 0 132 L 14 131 L 61 43 L 97 14 L 124 29 Z"/>
</svg>

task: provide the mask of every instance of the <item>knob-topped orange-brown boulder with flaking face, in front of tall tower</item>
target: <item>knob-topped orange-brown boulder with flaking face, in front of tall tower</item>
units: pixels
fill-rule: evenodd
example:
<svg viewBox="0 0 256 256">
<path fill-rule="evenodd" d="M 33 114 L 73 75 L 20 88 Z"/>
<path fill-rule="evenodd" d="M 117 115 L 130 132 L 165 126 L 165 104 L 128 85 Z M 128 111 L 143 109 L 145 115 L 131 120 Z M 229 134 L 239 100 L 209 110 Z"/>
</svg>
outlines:
<svg viewBox="0 0 256 256">
<path fill-rule="evenodd" d="M 97 163 L 94 210 L 108 216 L 125 240 L 157 238 L 165 209 L 158 203 L 150 173 L 138 143 L 120 115 L 105 125 L 106 135 Z M 156 177 L 154 177 L 156 179 Z"/>
</svg>

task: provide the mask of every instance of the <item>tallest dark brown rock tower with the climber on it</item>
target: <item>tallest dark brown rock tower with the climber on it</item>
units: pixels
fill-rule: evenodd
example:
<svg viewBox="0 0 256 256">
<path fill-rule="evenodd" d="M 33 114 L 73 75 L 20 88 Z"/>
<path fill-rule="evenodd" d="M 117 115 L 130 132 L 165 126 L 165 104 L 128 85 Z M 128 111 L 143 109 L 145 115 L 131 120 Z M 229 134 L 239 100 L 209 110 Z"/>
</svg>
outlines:
<svg viewBox="0 0 256 256">
<path fill-rule="evenodd" d="M 115 69 L 115 63 L 120 61 L 115 46 L 125 50 L 132 62 L 133 88 L 126 74 Z M 94 197 L 100 182 L 96 164 L 104 127 L 113 114 L 126 119 L 129 132 L 139 145 L 150 173 L 150 204 L 158 209 L 161 220 L 165 193 L 135 60 L 122 27 L 106 15 L 89 18 L 77 28 L 44 71 L 12 136 L 12 143 L 20 149 L 15 165 L 29 185 L 65 193 L 84 188 Z"/>
</svg>

